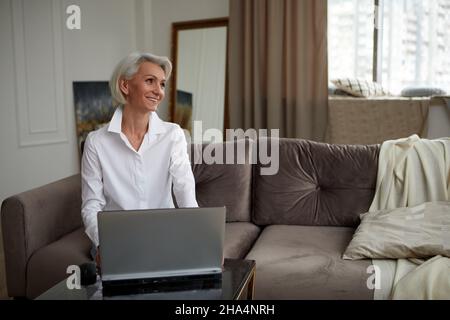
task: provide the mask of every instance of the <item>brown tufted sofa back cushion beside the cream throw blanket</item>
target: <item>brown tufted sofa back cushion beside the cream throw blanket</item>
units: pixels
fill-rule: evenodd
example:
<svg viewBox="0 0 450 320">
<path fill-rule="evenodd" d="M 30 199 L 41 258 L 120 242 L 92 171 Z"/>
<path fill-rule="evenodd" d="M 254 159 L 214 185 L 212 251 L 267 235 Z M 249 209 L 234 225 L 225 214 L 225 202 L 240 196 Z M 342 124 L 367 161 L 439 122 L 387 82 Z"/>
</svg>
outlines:
<svg viewBox="0 0 450 320">
<path fill-rule="evenodd" d="M 279 139 L 279 171 L 254 175 L 257 225 L 356 227 L 375 193 L 378 145 Z"/>
</svg>

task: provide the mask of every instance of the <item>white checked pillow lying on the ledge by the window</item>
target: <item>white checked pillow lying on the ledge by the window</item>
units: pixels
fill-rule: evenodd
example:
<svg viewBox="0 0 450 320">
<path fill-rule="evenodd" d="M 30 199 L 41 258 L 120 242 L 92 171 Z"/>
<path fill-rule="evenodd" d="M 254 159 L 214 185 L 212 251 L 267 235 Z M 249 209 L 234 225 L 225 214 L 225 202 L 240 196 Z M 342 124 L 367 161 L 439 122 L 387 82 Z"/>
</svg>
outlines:
<svg viewBox="0 0 450 320">
<path fill-rule="evenodd" d="M 331 81 L 338 89 L 341 89 L 355 97 L 376 97 L 389 95 L 379 83 L 362 79 L 335 79 Z"/>
</svg>

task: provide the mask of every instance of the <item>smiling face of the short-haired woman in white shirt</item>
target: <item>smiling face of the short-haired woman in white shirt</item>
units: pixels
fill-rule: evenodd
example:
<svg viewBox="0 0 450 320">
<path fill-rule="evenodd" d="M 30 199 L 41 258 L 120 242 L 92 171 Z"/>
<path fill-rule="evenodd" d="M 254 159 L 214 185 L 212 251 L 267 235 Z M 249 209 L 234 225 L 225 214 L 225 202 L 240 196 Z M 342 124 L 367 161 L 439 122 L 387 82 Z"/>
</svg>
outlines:
<svg viewBox="0 0 450 320">
<path fill-rule="evenodd" d="M 130 80 L 121 80 L 120 88 L 133 108 L 156 111 L 164 99 L 166 76 L 157 64 L 144 62 Z"/>
</svg>

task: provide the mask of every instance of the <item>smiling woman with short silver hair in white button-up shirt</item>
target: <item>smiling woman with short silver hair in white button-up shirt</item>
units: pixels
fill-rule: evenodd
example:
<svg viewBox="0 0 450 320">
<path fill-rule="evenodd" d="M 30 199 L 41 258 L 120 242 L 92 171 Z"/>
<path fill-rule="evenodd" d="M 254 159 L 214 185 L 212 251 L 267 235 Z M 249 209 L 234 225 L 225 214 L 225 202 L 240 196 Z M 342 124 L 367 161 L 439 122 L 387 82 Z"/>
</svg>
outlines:
<svg viewBox="0 0 450 320">
<path fill-rule="evenodd" d="M 132 53 L 115 68 L 110 89 L 116 111 L 109 125 L 89 133 L 81 164 L 82 217 L 98 255 L 102 210 L 198 207 L 182 129 L 159 119 L 172 64 Z"/>
</svg>

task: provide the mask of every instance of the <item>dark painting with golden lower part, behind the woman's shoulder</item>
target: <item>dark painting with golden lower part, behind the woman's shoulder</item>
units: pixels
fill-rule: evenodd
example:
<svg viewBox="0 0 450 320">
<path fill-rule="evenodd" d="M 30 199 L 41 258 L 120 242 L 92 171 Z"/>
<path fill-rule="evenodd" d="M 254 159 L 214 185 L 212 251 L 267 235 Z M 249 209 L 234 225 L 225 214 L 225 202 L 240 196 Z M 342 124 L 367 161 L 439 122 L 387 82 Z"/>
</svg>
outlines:
<svg viewBox="0 0 450 320">
<path fill-rule="evenodd" d="M 73 96 L 80 157 L 89 132 L 106 125 L 115 108 L 108 81 L 74 81 Z"/>
</svg>

